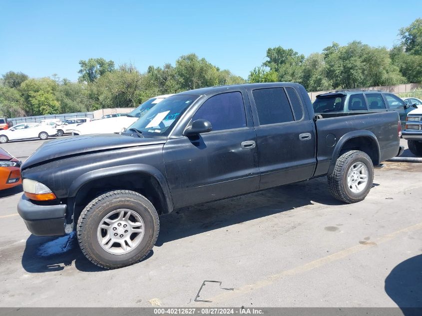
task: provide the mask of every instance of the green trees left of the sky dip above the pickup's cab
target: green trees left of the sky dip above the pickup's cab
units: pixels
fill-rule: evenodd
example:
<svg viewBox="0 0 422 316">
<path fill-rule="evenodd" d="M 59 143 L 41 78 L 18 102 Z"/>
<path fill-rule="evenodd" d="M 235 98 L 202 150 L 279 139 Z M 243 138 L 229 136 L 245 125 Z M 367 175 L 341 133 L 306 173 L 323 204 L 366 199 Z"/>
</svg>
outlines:
<svg viewBox="0 0 422 316">
<path fill-rule="evenodd" d="M 78 82 L 53 74 L 29 78 L 9 71 L 0 79 L 0 116 L 17 117 L 85 112 L 109 107 L 134 107 L 148 98 L 205 86 L 245 83 L 195 54 L 179 57 L 175 66 L 149 66 L 145 73 L 132 64 L 112 60 L 79 61 Z"/>
</svg>

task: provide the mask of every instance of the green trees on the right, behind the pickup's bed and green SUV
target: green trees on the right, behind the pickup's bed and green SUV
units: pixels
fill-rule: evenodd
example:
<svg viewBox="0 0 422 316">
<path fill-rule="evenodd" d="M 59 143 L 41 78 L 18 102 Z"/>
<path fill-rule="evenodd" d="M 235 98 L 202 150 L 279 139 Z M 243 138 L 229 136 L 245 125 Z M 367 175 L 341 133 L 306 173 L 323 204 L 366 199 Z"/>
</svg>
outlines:
<svg viewBox="0 0 422 316">
<path fill-rule="evenodd" d="M 422 82 L 422 18 L 399 30 L 391 50 L 360 41 L 333 42 L 307 58 L 292 48 L 268 48 L 267 60 L 249 74 L 249 82 L 293 81 L 308 91 Z"/>
</svg>

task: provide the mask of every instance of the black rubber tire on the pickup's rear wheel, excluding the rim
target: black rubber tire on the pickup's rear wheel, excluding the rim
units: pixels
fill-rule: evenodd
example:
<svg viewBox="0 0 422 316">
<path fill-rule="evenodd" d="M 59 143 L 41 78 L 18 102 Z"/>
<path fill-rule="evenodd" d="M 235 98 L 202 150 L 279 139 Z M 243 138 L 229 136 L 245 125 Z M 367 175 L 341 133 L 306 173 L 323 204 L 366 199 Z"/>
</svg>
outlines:
<svg viewBox="0 0 422 316">
<path fill-rule="evenodd" d="M 348 172 L 357 163 L 363 163 L 368 171 L 368 181 L 359 193 L 352 192 L 348 186 Z M 334 172 L 328 177 L 330 192 L 334 198 L 346 203 L 356 203 L 364 200 L 374 182 L 374 165 L 371 158 L 359 150 L 351 150 L 342 154 L 336 162 Z"/>
</svg>

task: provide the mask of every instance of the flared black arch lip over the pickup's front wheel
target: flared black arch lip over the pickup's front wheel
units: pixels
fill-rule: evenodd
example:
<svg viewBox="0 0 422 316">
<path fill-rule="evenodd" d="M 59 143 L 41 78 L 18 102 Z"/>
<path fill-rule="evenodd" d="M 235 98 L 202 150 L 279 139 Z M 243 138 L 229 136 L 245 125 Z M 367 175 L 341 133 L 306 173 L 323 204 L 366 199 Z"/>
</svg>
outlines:
<svg viewBox="0 0 422 316">
<path fill-rule="evenodd" d="M 173 200 L 171 198 L 170 189 L 168 187 L 166 178 L 157 168 L 146 164 L 129 164 L 123 166 L 114 166 L 84 173 L 72 182 L 69 188 L 68 196 L 75 197 L 84 184 L 93 180 L 100 180 L 102 177 L 123 175 L 134 172 L 148 174 L 154 177 L 155 180 L 157 180 L 164 193 L 168 213 L 170 213 L 173 210 Z"/>
</svg>

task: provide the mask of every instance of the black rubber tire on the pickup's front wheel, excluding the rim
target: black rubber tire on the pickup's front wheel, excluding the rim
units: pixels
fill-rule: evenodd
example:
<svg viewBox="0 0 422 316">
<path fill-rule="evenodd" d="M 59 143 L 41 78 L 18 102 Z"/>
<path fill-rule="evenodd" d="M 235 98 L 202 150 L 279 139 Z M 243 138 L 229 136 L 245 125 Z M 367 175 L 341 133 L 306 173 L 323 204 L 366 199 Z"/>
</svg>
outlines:
<svg viewBox="0 0 422 316">
<path fill-rule="evenodd" d="M 140 243 L 128 253 L 112 254 L 100 245 L 97 233 L 103 219 L 120 209 L 140 216 L 144 233 Z M 151 202 L 139 193 L 128 190 L 107 192 L 91 201 L 80 214 L 76 228 L 82 253 L 90 262 L 105 269 L 130 266 L 144 259 L 154 247 L 159 231 L 158 214 Z"/>
</svg>

